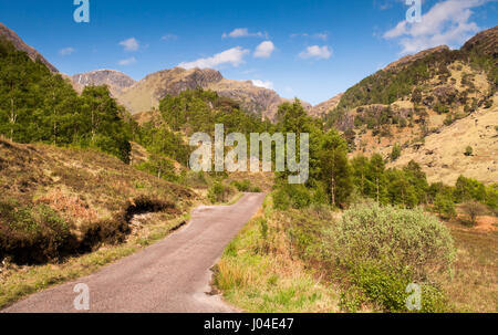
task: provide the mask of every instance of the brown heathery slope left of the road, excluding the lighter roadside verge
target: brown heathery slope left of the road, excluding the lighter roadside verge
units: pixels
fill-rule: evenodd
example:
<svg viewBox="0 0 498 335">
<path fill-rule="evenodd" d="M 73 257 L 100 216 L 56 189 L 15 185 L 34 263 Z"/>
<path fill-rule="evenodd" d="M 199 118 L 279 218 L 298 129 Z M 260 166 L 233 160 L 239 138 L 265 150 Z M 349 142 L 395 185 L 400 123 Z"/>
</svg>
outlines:
<svg viewBox="0 0 498 335">
<path fill-rule="evenodd" d="M 135 213 L 180 214 L 189 189 L 96 150 L 0 138 L 0 260 L 42 263 L 122 242 Z"/>
</svg>

